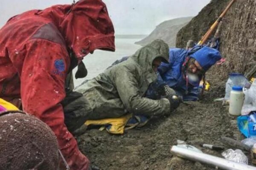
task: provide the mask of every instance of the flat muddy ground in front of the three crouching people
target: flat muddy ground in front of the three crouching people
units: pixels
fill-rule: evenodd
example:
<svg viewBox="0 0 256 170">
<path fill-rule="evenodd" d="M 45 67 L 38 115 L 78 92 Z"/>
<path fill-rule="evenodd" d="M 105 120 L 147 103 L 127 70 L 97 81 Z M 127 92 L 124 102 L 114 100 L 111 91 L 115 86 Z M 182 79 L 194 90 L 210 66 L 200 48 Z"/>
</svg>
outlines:
<svg viewBox="0 0 256 170">
<path fill-rule="evenodd" d="M 213 99 L 224 96 L 225 80 L 212 79 L 204 99 L 180 105 L 168 117 L 151 119 L 147 125 L 111 135 L 97 129 L 78 137 L 81 151 L 101 170 L 214 170 L 205 164 L 178 159 L 170 152 L 177 139 L 184 140 L 215 156 L 220 152 L 204 149 L 201 143 L 218 144 L 221 136 L 243 139 L 228 109 Z M 229 149 L 230 147 L 226 147 Z"/>
</svg>

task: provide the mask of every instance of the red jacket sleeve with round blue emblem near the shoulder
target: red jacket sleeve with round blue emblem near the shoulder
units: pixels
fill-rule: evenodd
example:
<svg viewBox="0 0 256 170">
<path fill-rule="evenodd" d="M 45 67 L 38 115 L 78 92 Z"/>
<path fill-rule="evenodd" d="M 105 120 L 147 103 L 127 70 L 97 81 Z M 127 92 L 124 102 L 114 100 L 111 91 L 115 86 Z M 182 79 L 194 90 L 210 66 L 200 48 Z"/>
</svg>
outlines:
<svg viewBox="0 0 256 170">
<path fill-rule="evenodd" d="M 33 39 L 26 44 L 26 51 L 21 74 L 24 111 L 51 127 L 71 170 L 87 170 L 89 161 L 67 130 L 60 104 L 65 97 L 65 78 L 70 65 L 66 49 L 48 40 Z"/>
</svg>

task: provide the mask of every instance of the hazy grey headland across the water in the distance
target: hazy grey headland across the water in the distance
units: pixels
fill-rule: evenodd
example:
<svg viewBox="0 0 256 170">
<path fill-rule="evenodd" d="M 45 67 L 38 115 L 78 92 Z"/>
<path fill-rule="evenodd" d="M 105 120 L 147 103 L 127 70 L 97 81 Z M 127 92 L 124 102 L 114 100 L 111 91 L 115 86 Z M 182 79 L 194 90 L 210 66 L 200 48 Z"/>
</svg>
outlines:
<svg viewBox="0 0 256 170">
<path fill-rule="evenodd" d="M 182 17 L 164 21 L 163 23 L 160 23 L 154 29 L 154 31 L 148 35 L 148 37 L 145 37 L 141 41 L 135 42 L 135 44 L 146 45 L 153 40 L 161 39 L 164 40 L 169 45 L 169 47 L 174 47 L 177 32 L 191 19 L 192 17 Z"/>
</svg>

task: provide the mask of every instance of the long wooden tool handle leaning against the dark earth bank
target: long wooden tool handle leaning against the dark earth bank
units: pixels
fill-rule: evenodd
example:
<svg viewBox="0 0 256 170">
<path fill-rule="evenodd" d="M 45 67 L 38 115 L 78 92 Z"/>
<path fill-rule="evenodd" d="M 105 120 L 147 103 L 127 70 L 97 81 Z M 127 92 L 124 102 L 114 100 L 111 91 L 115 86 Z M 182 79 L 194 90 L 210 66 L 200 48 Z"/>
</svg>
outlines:
<svg viewBox="0 0 256 170">
<path fill-rule="evenodd" d="M 204 42 L 209 38 L 209 36 L 212 34 L 212 31 L 218 26 L 218 23 L 221 22 L 224 15 L 227 13 L 229 8 L 232 6 L 232 4 L 235 2 L 235 0 L 232 0 L 228 6 L 225 8 L 225 10 L 221 13 L 221 15 L 218 17 L 218 19 L 212 24 L 212 26 L 209 28 L 209 30 L 204 34 L 204 37 L 198 42 L 198 45 L 203 45 Z"/>
</svg>

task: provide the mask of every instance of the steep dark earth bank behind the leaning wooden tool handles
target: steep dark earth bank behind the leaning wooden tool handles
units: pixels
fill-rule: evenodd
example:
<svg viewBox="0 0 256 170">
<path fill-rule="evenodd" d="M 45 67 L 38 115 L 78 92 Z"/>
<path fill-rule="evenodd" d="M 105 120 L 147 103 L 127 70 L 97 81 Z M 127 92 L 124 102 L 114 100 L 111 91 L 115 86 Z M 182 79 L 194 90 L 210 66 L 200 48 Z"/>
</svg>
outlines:
<svg viewBox="0 0 256 170">
<path fill-rule="evenodd" d="M 230 0 L 212 0 L 177 34 L 176 46 L 184 48 L 187 40 L 199 41 Z M 256 63 L 256 1 L 236 0 L 223 18 L 220 51 L 226 59 L 214 66 L 212 74 L 220 79 L 230 72 L 246 73 Z"/>
</svg>

